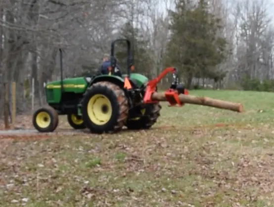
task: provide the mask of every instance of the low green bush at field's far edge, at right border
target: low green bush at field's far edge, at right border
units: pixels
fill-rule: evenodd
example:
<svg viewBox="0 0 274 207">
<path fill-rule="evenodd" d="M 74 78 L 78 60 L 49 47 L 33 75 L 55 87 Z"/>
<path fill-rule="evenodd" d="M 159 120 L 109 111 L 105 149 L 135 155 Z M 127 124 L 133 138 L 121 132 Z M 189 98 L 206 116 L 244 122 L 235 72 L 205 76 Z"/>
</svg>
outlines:
<svg viewBox="0 0 274 207">
<path fill-rule="evenodd" d="M 274 92 L 274 80 L 244 79 L 241 86 L 244 91 Z"/>
</svg>

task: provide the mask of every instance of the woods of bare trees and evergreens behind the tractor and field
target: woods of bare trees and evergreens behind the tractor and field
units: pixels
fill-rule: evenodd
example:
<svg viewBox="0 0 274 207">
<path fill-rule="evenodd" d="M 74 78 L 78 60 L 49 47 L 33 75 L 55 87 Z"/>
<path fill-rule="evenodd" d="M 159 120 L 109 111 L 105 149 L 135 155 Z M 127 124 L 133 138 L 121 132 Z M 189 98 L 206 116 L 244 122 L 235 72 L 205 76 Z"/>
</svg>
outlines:
<svg viewBox="0 0 274 207">
<path fill-rule="evenodd" d="M 176 66 L 187 88 L 274 90 L 267 0 L 1 0 L 0 83 L 16 82 L 17 112 L 45 104 L 44 83 L 93 73 L 115 38 L 132 41 L 150 78 Z M 126 47 L 117 58 L 125 67 Z M 165 81 L 162 83 L 165 85 Z M 9 93 L 9 102 L 11 102 Z M 3 104 L 3 93 L 0 94 Z"/>
</svg>

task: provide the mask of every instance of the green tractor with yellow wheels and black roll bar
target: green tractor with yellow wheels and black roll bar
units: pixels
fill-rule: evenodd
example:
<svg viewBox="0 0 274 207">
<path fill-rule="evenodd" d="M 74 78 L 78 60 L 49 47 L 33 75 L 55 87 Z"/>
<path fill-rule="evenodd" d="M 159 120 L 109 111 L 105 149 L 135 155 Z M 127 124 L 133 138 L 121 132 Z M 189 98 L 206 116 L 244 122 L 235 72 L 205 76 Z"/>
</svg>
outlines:
<svg viewBox="0 0 274 207">
<path fill-rule="evenodd" d="M 114 47 L 118 41 L 127 43 L 126 74 L 116 67 Z M 150 128 L 160 116 L 161 105 L 157 101 L 143 101 L 148 78 L 133 73 L 129 40 L 117 39 L 111 43 L 110 62 L 108 75 L 63 79 L 60 50 L 61 80 L 46 84 L 47 106 L 33 114 L 34 127 L 39 132 L 53 132 L 58 115 L 67 115 L 71 127 L 88 128 L 92 133 L 118 132 L 123 126 L 135 130 Z"/>
</svg>

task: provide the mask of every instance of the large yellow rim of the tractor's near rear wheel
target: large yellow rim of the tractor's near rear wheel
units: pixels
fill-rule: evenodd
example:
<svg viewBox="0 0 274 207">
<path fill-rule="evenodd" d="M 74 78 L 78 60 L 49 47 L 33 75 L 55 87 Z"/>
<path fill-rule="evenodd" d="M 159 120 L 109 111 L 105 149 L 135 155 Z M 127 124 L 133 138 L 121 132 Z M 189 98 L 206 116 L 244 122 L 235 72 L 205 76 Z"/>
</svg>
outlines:
<svg viewBox="0 0 274 207">
<path fill-rule="evenodd" d="M 101 94 L 92 96 L 87 107 L 88 115 L 94 124 L 104 125 L 110 120 L 112 107 L 106 96 Z"/>
</svg>

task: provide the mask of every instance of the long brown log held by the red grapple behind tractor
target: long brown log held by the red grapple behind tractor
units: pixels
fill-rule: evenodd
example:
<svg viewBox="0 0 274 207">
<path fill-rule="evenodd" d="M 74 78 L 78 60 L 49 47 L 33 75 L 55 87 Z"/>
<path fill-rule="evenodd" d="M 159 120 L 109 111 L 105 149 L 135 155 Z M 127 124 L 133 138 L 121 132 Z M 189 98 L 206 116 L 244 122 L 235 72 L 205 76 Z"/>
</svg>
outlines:
<svg viewBox="0 0 274 207">
<path fill-rule="evenodd" d="M 165 93 L 153 93 L 151 96 L 151 99 L 153 101 L 167 101 L 165 97 Z M 211 99 L 208 97 L 195 97 L 195 96 L 190 96 L 190 95 L 179 95 L 179 99 L 182 103 L 184 104 L 197 104 L 197 105 L 206 105 L 210 107 L 215 107 L 215 108 L 222 108 L 222 109 L 227 109 L 227 110 L 232 110 L 232 111 L 237 111 L 237 112 L 243 112 L 243 105 L 240 103 L 232 103 L 232 102 L 227 102 L 223 100 L 218 100 L 218 99 Z"/>
</svg>

